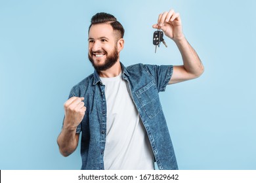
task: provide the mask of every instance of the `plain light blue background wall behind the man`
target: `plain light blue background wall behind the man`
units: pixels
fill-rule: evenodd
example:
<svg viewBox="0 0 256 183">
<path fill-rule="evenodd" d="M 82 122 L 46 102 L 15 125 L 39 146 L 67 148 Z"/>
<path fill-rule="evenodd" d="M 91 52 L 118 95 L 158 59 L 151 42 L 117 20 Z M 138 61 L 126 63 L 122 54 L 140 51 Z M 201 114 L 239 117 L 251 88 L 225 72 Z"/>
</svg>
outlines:
<svg viewBox="0 0 256 183">
<path fill-rule="evenodd" d="M 205 73 L 160 93 L 180 169 L 256 169 L 255 1 L 0 1 L 0 169 L 80 169 L 56 138 L 72 86 L 93 72 L 91 16 L 125 27 L 125 65 L 180 65 L 175 43 L 154 53 L 152 24 L 174 8 Z"/>
</svg>

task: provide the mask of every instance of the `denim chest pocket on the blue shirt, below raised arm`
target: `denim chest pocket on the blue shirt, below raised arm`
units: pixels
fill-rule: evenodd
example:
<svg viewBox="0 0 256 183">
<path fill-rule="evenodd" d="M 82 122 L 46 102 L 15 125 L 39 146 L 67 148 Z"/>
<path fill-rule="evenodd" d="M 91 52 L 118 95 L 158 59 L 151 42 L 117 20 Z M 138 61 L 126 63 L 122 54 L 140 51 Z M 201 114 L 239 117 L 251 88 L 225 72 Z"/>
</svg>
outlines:
<svg viewBox="0 0 256 183">
<path fill-rule="evenodd" d="M 161 111 L 158 90 L 153 80 L 135 92 L 135 95 L 139 99 L 142 107 L 150 119 L 154 118 Z"/>
</svg>

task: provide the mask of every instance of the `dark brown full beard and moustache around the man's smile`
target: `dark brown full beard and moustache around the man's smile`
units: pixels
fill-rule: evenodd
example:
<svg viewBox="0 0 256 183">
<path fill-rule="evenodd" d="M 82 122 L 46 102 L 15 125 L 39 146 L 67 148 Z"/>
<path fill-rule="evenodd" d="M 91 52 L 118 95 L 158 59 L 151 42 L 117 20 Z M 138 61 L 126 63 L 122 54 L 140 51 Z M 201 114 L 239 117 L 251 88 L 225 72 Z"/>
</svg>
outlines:
<svg viewBox="0 0 256 183">
<path fill-rule="evenodd" d="M 102 53 L 102 51 L 98 51 L 98 52 Z M 106 54 L 106 52 L 104 52 L 104 54 L 106 54 L 106 59 L 102 65 L 95 64 L 96 61 L 93 60 L 93 53 L 95 54 L 97 52 L 91 52 L 91 54 L 88 53 L 88 58 L 91 61 L 91 64 L 93 65 L 96 71 L 106 71 L 107 69 L 110 69 L 110 67 L 112 67 L 117 62 L 117 59 L 119 58 L 116 46 L 113 52 L 111 52 L 109 55 Z"/>
</svg>

